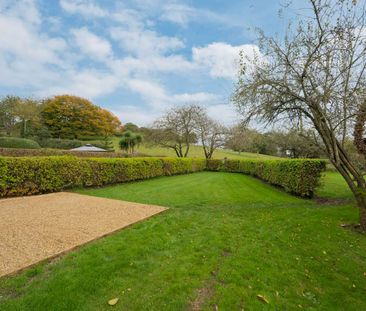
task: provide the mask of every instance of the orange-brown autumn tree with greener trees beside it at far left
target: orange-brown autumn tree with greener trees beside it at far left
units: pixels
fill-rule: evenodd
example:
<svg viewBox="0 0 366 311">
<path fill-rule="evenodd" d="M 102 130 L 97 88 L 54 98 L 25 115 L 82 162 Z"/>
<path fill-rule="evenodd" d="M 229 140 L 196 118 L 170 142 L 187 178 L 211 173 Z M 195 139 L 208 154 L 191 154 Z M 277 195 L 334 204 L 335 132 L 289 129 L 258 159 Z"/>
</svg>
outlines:
<svg viewBox="0 0 366 311">
<path fill-rule="evenodd" d="M 81 139 L 121 132 L 120 120 L 87 99 L 60 95 L 46 99 L 0 99 L 0 132 L 7 136 Z"/>
</svg>

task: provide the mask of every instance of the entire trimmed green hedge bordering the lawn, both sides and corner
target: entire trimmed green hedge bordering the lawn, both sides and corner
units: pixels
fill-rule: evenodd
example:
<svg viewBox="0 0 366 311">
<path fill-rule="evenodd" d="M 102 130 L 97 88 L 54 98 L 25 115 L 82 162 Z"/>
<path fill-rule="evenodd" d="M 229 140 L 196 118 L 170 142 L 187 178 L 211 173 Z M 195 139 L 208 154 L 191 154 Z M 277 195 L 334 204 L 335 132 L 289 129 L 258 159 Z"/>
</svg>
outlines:
<svg viewBox="0 0 366 311">
<path fill-rule="evenodd" d="M 208 160 L 194 158 L 0 157 L 0 197 L 95 187 L 203 170 L 244 173 L 311 197 L 322 160 Z"/>
</svg>

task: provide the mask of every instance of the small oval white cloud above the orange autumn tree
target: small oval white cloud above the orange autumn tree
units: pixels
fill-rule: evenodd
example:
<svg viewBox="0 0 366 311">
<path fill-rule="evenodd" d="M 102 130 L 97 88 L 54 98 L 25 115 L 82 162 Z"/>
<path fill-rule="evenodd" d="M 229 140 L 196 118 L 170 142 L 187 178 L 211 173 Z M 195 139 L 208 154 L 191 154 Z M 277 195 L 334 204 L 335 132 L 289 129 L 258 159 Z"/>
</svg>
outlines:
<svg viewBox="0 0 366 311">
<path fill-rule="evenodd" d="M 90 32 L 86 27 L 72 29 L 77 46 L 86 55 L 105 60 L 112 55 L 111 44 Z"/>
</svg>

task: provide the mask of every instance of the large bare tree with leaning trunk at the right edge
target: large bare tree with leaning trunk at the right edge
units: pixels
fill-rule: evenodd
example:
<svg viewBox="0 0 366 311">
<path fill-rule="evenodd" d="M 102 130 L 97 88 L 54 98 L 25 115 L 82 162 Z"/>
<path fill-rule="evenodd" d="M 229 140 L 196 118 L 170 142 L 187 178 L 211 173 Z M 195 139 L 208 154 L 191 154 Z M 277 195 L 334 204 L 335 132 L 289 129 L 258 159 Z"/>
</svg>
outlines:
<svg viewBox="0 0 366 311">
<path fill-rule="evenodd" d="M 250 68 L 242 60 L 233 100 L 249 118 L 285 118 L 314 127 L 354 194 L 366 230 L 366 182 L 343 145 L 366 99 L 365 0 L 308 4 L 284 39 L 260 33 L 263 55 Z"/>
</svg>

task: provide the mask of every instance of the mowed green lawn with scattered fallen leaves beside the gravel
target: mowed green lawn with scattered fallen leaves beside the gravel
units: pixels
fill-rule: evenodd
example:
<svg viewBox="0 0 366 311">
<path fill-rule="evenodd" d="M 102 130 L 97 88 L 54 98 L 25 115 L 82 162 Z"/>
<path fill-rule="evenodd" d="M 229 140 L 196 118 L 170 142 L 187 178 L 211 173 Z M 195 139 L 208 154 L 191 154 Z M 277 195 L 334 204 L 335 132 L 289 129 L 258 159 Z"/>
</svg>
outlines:
<svg viewBox="0 0 366 311">
<path fill-rule="evenodd" d="M 340 226 L 357 221 L 350 204 L 213 172 L 79 192 L 170 209 L 0 279 L 0 310 L 366 310 L 366 236 Z"/>
</svg>

